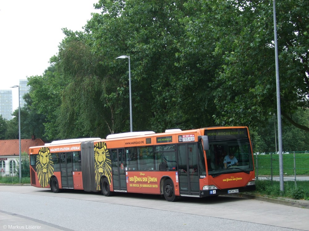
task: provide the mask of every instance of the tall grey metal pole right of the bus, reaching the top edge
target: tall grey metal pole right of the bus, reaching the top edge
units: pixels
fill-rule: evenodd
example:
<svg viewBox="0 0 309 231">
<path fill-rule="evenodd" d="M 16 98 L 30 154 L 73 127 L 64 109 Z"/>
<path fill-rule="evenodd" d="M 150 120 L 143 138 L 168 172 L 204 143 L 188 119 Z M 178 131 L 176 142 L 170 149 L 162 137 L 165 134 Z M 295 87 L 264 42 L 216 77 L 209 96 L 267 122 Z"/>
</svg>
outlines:
<svg viewBox="0 0 309 231">
<path fill-rule="evenodd" d="M 281 107 L 280 107 L 280 84 L 279 84 L 279 62 L 277 44 L 277 22 L 276 22 L 276 3 L 273 0 L 273 27 L 275 40 L 275 60 L 276 60 L 276 88 L 277 88 L 277 121 L 278 121 L 278 146 L 279 146 L 279 180 L 280 191 L 284 191 L 283 181 L 283 156 L 282 156 L 282 131 L 281 131 Z"/>
</svg>

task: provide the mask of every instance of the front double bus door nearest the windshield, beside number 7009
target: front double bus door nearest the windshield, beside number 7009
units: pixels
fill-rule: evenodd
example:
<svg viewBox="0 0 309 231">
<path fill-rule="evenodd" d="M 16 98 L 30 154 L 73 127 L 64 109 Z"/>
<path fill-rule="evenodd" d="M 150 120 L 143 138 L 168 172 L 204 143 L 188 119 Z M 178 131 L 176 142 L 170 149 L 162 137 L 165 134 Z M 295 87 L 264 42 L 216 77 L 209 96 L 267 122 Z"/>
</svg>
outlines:
<svg viewBox="0 0 309 231">
<path fill-rule="evenodd" d="M 199 195 L 197 144 L 178 144 L 180 195 Z"/>
</svg>

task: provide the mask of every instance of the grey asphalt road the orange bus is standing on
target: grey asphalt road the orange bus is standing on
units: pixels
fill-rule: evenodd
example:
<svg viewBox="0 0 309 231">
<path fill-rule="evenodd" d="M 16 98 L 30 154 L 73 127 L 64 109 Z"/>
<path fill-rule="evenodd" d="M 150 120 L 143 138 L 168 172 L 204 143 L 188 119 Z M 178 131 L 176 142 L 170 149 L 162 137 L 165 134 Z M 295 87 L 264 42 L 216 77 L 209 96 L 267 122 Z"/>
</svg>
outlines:
<svg viewBox="0 0 309 231">
<path fill-rule="evenodd" d="M 167 202 L 154 195 L 0 186 L 0 230 L 309 230 L 309 210 L 219 196 Z"/>
</svg>

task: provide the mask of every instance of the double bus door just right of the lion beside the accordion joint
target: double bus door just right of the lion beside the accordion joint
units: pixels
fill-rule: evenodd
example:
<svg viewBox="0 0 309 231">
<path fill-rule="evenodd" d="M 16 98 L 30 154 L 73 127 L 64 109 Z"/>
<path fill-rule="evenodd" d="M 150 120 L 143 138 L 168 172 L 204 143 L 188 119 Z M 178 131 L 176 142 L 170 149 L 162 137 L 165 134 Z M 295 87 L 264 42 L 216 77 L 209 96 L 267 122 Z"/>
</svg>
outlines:
<svg viewBox="0 0 309 231">
<path fill-rule="evenodd" d="M 125 175 L 125 149 L 117 148 L 112 149 L 112 176 L 113 176 L 113 186 L 114 190 L 126 191 L 127 181 Z"/>
</svg>

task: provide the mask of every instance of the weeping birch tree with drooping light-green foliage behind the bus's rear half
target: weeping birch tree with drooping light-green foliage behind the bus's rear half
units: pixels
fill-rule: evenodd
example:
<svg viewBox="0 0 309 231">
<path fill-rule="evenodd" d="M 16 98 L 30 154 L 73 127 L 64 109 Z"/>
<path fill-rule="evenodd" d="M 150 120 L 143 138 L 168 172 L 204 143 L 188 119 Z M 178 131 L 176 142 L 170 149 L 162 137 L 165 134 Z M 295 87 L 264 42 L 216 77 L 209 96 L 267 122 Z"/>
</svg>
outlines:
<svg viewBox="0 0 309 231">
<path fill-rule="evenodd" d="M 93 34 L 64 32 L 57 65 L 69 81 L 63 88 L 58 117 L 61 136 L 104 137 L 123 131 L 126 81 L 113 73 L 115 68 L 105 54 L 92 52 Z"/>
</svg>

